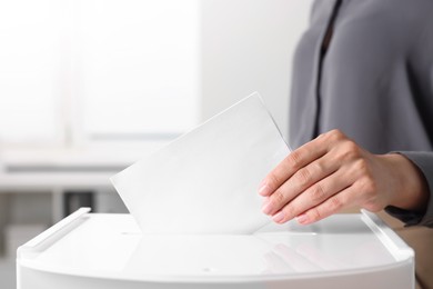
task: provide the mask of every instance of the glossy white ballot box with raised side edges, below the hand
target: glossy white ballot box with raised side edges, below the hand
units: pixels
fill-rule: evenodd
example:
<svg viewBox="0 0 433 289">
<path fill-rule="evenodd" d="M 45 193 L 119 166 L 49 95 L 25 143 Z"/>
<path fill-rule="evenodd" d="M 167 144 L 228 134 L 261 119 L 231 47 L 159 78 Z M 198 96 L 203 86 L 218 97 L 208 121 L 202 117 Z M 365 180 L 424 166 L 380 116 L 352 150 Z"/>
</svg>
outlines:
<svg viewBox="0 0 433 289">
<path fill-rule="evenodd" d="M 251 235 L 164 235 L 89 210 L 18 249 L 18 289 L 414 288 L 413 250 L 369 212 Z"/>
</svg>

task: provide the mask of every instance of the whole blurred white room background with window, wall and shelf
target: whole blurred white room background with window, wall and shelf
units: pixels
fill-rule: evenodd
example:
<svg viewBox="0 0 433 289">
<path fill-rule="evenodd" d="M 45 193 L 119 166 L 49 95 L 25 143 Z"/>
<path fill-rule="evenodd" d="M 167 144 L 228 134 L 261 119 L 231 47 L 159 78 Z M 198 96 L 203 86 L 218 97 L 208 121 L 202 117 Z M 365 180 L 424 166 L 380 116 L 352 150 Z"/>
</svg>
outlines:
<svg viewBox="0 0 433 289">
<path fill-rule="evenodd" d="M 0 282 L 109 177 L 259 91 L 288 138 L 306 0 L 0 0 Z"/>
</svg>

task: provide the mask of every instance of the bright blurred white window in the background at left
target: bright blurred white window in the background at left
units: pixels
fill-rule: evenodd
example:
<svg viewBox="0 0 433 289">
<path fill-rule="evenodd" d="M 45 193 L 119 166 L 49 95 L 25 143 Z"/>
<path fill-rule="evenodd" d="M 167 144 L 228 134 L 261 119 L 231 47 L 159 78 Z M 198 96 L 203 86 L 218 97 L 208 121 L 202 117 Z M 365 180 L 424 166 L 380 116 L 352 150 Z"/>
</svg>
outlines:
<svg viewBox="0 0 433 289">
<path fill-rule="evenodd" d="M 0 1 L 0 141 L 171 139 L 195 124 L 197 0 Z"/>
</svg>

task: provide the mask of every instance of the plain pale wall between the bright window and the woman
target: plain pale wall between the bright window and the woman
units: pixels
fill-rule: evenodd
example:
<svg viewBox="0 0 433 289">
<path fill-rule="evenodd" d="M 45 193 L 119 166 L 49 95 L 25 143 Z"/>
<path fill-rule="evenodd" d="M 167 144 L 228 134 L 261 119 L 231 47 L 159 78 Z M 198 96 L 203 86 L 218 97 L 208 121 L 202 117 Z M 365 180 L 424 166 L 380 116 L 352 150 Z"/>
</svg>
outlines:
<svg viewBox="0 0 433 289">
<path fill-rule="evenodd" d="M 259 91 L 288 138 L 292 53 L 312 0 L 201 1 L 201 119 Z"/>
</svg>

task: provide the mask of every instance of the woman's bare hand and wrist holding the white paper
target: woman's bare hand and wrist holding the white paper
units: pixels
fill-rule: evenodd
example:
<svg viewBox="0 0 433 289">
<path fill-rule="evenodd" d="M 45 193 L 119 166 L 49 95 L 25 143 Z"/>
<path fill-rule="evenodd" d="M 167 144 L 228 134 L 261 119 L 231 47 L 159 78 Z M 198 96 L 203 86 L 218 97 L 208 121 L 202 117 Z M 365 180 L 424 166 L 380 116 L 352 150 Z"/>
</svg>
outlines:
<svg viewBox="0 0 433 289">
<path fill-rule="evenodd" d="M 263 212 L 283 223 L 302 225 L 348 208 L 380 211 L 386 206 L 425 209 L 426 182 L 399 153 L 372 155 L 339 130 L 291 152 L 262 181 Z"/>
</svg>

